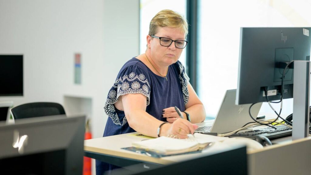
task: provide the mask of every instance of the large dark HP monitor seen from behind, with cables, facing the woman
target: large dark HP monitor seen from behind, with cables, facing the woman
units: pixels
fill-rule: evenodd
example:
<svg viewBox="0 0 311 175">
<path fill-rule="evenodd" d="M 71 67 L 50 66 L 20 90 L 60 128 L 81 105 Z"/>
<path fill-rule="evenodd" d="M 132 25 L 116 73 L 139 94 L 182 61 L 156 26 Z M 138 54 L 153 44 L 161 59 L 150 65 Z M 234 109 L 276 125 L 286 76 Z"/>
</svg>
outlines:
<svg viewBox="0 0 311 175">
<path fill-rule="evenodd" d="M 280 62 L 310 60 L 311 27 L 241 28 L 236 104 L 281 98 Z M 294 63 L 295 67 L 295 63 Z M 284 77 L 283 99 L 293 98 L 293 69 Z"/>
</svg>

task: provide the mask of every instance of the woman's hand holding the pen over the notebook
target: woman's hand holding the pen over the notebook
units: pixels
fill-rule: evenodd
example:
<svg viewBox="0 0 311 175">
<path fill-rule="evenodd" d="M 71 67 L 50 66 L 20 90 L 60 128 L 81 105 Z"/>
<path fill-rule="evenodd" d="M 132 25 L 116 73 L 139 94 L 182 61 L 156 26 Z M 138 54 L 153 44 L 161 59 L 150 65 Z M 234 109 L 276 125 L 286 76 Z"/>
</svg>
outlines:
<svg viewBox="0 0 311 175">
<path fill-rule="evenodd" d="M 185 139 L 188 138 L 188 134 L 194 133 L 194 130 L 198 128 L 197 125 L 190 123 L 188 120 L 178 118 L 174 123 L 172 124 L 166 124 L 163 125 L 163 129 L 165 132 L 163 132 L 163 136 L 167 135 L 176 135 L 177 138 Z"/>
</svg>

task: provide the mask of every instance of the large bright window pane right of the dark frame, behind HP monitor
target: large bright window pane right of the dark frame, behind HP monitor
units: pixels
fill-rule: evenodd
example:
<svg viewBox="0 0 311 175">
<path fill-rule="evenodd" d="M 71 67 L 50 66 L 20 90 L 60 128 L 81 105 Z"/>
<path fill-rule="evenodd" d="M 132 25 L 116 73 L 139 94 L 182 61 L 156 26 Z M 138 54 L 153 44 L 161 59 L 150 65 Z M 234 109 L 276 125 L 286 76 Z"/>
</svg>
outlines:
<svg viewBox="0 0 311 175">
<path fill-rule="evenodd" d="M 310 8 L 306 0 L 199 1 L 197 93 L 207 117 L 216 116 L 227 89 L 237 88 L 240 27 L 311 26 Z M 284 100 L 282 114 L 292 106 L 293 99 Z M 264 112 L 271 113 L 267 104 Z"/>
</svg>

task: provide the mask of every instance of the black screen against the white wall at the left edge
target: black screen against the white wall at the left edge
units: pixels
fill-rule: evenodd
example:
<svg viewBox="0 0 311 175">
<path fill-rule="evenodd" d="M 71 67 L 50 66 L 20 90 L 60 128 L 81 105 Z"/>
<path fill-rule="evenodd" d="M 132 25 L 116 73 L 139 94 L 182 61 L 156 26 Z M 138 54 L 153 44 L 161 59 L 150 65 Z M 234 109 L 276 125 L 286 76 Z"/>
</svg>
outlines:
<svg viewBox="0 0 311 175">
<path fill-rule="evenodd" d="M 0 96 L 23 96 L 23 55 L 0 55 Z"/>
</svg>

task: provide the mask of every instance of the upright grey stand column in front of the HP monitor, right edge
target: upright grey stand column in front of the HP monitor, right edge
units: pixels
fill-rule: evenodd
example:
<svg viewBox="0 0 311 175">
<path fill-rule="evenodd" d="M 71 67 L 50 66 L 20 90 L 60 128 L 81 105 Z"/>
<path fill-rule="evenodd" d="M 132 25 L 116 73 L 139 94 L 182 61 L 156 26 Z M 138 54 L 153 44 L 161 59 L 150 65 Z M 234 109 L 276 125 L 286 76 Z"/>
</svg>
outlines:
<svg viewBox="0 0 311 175">
<path fill-rule="evenodd" d="M 309 136 L 310 61 L 294 61 L 292 140 Z"/>
</svg>

